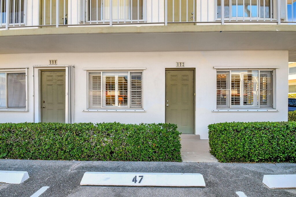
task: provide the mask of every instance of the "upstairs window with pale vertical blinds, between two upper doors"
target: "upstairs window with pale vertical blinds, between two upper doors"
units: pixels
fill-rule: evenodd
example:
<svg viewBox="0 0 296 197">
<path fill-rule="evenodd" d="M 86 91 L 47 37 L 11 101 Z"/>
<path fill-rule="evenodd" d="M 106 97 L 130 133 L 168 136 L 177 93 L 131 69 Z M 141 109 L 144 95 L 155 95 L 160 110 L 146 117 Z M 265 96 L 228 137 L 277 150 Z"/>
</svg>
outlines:
<svg viewBox="0 0 296 197">
<path fill-rule="evenodd" d="M 86 0 L 82 8 L 85 21 L 110 20 L 110 0 Z M 143 20 L 143 0 L 113 0 L 112 20 Z"/>
</svg>

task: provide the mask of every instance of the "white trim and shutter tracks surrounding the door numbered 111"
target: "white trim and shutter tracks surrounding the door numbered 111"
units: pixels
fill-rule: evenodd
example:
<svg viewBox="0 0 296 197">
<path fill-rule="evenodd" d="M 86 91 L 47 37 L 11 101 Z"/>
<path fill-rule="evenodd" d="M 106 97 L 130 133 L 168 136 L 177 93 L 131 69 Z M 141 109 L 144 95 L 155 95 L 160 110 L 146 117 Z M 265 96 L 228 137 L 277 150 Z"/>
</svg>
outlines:
<svg viewBox="0 0 296 197">
<path fill-rule="evenodd" d="M 74 122 L 74 65 L 34 65 L 33 66 L 33 120 L 41 122 L 41 72 L 65 71 L 65 123 Z"/>
</svg>

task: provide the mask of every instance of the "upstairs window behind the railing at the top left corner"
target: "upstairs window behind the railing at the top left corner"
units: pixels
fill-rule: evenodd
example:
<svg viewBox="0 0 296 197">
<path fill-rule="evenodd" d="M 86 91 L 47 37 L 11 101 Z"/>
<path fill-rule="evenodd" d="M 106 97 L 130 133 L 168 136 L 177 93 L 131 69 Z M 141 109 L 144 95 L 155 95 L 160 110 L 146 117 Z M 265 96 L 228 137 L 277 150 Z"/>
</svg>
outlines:
<svg viewBox="0 0 296 197">
<path fill-rule="evenodd" d="M 6 23 L 6 1 L 0 0 L 0 18 L 1 23 Z M 9 23 L 19 24 L 24 23 L 25 0 L 10 0 L 9 1 Z"/>
</svg>

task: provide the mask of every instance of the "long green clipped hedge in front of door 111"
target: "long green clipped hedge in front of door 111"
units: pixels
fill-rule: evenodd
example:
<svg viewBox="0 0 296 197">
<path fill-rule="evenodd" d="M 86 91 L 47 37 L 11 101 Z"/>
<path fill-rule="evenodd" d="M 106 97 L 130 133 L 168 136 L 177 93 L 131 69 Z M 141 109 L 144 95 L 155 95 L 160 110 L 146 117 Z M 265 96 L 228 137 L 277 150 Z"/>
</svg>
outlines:
<svg viewBox="0 0 296 197">
<path fill-rule="evenodd" d="M 0 159 L 181 162 L 174 124 L 3 123 Z"/>
</svg>

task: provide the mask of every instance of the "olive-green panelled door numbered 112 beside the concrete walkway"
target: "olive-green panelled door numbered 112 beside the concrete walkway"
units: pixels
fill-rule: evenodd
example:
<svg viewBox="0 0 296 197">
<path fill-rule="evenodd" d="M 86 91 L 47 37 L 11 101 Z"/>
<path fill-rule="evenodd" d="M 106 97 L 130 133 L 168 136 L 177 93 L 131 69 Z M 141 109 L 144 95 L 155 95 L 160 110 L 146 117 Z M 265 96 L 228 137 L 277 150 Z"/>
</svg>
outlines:
<svg viewBox="0 0 296 197">
<path fill-rule="evenodd" d="M 194 71 L 165 71 L 165 122 L 181 133 L 194 133 Z"/>
</svg>

